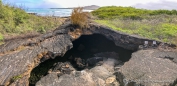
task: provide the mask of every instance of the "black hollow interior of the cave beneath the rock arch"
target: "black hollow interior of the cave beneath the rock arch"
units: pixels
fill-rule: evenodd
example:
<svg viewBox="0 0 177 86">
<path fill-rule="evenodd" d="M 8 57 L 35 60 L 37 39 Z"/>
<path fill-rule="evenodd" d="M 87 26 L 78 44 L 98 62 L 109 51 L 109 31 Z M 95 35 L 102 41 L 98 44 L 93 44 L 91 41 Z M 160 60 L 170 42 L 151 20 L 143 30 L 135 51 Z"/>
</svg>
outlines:
<svg viewBox="0 0 177 86">
<path fill-rule="evenodd" d="M 84 47 L 83 49 L 82 46 Z M 116 52 L 119 54 L 119 60 L 126 62 L 131 58 L 132 50 L 127 50 L 116 46 L 113 41 L 100 34 L 83 35 L 73 42 L 73 48 L 70 50 L 72 55 L 84 59 L 92 57 L 100 52 Z"/>
</svg>

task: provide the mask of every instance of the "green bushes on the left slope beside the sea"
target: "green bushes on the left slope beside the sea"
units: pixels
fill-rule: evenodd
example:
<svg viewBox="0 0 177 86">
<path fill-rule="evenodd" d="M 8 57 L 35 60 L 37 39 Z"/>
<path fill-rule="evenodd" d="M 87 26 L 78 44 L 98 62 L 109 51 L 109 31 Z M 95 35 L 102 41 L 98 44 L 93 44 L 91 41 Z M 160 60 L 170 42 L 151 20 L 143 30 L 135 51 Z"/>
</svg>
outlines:
<svg viewBox="0 0 177 86">
<path fill-rule="evenodd" d="M 26 13 L 23 9 L 3 4 L 0 0 L 0 41 L 3 36 L 25 33 L 45 33 L 61 24 L 61 18 L 42 17 Z"/>
</svg>

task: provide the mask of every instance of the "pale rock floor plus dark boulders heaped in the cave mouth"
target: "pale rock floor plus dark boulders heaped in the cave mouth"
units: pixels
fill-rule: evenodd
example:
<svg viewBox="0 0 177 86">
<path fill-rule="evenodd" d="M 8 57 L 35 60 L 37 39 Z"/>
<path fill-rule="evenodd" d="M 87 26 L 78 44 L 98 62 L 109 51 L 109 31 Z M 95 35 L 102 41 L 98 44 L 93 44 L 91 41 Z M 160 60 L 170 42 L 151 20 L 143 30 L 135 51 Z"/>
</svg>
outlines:
<svg viewBox="0 0 177 86">
<path fill-rule="evenodd" d="M 112 53 L 109 54 L 111 56 Z M 91 59 L 98 61 L 98 57 Z M 57 63 L 36 86 L 119 86 L 114 75 L 114 66 L 120 65 L 121 61 L 115 60 L 114 57 L 104 57 L 98 62 L 93 61 L 92 66 L 93 64 L 95 65 L 91 69 L 77 71 L 68 62 Z"/>
</svg>

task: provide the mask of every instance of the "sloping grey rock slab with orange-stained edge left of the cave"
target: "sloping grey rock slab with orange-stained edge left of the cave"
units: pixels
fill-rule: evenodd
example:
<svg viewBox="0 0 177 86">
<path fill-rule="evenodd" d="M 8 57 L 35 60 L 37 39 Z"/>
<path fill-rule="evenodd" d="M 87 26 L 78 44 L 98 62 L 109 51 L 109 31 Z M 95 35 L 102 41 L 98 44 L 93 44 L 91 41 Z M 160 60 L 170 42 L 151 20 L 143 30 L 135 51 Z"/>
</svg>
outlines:
<svg viewBox="0 0 177 86">
<path fill-rule="evenodd" d="M 33 39 L 18 39 L 1 45 L 0 85 L 28 86 L 30 72 L 42 58 L 62 56 L 71 48 L 70 36 L 56 33 Z M 48 55 L 49 52 L 53 55 Z"/>
</svg>

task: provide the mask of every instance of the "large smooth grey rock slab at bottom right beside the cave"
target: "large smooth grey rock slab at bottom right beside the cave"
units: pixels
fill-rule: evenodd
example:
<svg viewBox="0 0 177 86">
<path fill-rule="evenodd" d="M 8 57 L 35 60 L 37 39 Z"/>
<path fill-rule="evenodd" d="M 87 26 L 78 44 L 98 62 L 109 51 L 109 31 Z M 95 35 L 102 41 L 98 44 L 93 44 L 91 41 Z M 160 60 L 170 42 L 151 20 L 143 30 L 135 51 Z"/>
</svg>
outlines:
<svg viewBox="0 0 177 86">
<path fill-rule="evenodd" d="M 168 58 L 177 58 L 176 52 L 140 50 L 132 54 L 116 73 L 122 86 L 177 85 L 177 64 Z"/>
</svg>

